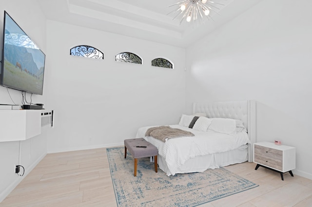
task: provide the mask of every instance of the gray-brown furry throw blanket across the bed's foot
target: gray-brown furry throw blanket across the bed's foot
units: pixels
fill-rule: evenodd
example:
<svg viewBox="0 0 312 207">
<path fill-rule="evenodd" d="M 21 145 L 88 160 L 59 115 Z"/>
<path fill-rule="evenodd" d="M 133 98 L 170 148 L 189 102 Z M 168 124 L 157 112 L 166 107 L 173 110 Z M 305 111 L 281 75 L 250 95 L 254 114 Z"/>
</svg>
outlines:
<svg viewBox="0 0 312 207">
<path fill-rule="evenodd" d="M 145 136 L 150 136 L 166 142 L 166 138 L 193 137 L 194 134 L 182 129 L 171 128 L 170 126 L 156 126 L 149 128 Z"/>
</svg>

